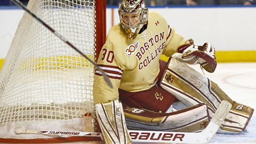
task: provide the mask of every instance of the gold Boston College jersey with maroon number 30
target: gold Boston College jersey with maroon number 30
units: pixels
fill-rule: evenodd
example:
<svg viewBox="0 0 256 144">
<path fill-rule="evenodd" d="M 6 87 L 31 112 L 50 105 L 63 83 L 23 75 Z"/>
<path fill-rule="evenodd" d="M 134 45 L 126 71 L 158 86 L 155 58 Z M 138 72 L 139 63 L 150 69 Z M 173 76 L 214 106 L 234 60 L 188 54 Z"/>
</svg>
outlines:
<svg viewBox="0 0 256 144">
<path fill-rule="evenodd" d="M 185 39 L 156 12 L 149 12 L 147 29 L 132 40 L 123 34 L 120 23 L 111 27 L 97 64 L 110 78 L 113 89 L 106 84 L 100 71 L 95 70 L 94 103 L 119 99 L 118 89 L 138 92 L 153 87 L 161 55 L 171 57 L 183 43 Z"/>
</svg>

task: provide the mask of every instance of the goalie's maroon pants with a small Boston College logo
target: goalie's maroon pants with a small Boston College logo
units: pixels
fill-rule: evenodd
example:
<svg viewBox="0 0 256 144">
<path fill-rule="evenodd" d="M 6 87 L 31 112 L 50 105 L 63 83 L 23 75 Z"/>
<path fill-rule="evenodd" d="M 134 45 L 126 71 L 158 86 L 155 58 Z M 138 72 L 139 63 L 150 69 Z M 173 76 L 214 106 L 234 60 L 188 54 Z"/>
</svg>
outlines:
<svg viewBox="0 0 256 144">
<path fill-rule="evenodd" d="M 175 100 L 175 97 L 160 86 L 160 80 L 167 62 L 159 60 L 160 72 L 156 77 L 156 84 L 149 90 L 139 92 L 127 92 L 119 89 L 119 100 L 126 105 L 144 108 L 157 113 L 165 112 Z"/>
</svg>

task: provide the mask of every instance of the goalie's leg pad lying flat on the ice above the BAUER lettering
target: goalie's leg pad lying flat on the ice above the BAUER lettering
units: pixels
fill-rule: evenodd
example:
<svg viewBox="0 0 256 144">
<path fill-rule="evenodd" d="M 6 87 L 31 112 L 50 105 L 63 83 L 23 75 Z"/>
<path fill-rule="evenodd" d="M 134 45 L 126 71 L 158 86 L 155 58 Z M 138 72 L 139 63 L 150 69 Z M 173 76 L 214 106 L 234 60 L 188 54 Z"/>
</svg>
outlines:
<svg viewBox="0 0 256 144">
<path fill-rule="evenodd" d="M 210 121 L 205 103 L 172 113 L 156 113 L 125 104 L 123 109 L 129 130 L 199 132 L 204 130 Z"/>
</svg>

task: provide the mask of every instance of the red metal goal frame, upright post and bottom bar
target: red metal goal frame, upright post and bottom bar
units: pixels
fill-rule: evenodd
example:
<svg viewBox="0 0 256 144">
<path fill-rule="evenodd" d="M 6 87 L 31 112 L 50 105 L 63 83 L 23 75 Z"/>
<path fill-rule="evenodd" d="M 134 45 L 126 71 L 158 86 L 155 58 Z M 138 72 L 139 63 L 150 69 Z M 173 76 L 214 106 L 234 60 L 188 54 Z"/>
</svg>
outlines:
<svg viewBox="0 0 256 144">
<path fill-rule="evenodd" d="M 99 57 L 101 47 L 106 41 L 106 0 L 95 1 L 95 61 Z M 71 48 L 70 48 L 71 49 Z M 38 139 L 6 139 L 0 138 L 1 143 L 66 143 L 79 141 L 101 141 L 100 137 L 58 137 L 58 138 L 38 138 Z"/>
</svg>

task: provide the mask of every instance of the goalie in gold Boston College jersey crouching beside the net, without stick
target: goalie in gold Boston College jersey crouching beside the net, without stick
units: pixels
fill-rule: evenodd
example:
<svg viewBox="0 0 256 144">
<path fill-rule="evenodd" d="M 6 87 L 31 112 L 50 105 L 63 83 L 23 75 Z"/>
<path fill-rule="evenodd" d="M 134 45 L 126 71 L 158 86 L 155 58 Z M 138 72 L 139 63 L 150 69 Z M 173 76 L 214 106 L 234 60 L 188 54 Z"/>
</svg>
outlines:
<svg viewBox="0 0 256 144">
<path fill-rule="evenodd" d="M 142 0 L 123 0 L 118 13 L 120 23 L 110 28 L 97 61 L 113 89 L 98 70 L 93 83 L 96 115 L 106 143 L 131 143 L 127 127 L 202 130 L 222 100 L 233 107 L 221 131 L 246 130 L 253 109 L 234 102 L 217 84 L 187 66 L 199 63 L 213 73 L 217 62 L 211 44 L 185 42 L 161 14 L 148 12 Z M 169 62 L 160 60 L 162 54 L 171 57 Z"/>
</svg>

